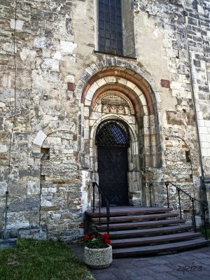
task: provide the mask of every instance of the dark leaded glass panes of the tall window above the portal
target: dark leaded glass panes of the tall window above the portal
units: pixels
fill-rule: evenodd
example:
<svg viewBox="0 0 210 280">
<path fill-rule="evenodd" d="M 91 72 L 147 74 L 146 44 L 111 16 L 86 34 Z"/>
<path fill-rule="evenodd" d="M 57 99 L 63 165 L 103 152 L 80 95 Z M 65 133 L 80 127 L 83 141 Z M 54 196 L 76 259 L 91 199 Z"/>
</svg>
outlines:
<svg viewBox="0 0 210 280">
<path fill-rule="evenodd" d="M 99 51 L 123 55 L 121 0 L 99 0 Z"/>
</svg>

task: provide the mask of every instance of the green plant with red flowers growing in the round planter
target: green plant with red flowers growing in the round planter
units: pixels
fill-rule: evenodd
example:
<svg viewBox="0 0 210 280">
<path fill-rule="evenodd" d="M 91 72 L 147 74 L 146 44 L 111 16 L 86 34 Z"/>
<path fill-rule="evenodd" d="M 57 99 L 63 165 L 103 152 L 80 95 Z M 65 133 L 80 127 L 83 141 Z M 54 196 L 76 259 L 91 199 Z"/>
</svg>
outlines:
<svg viewBox="0 0 210 280">
<path fill-rule="evenodd" d="M 111 244 L 109 234 L 104 235 L 85 235 L 84 244 L 88 248 L 106 248 Z"/>
</svg>

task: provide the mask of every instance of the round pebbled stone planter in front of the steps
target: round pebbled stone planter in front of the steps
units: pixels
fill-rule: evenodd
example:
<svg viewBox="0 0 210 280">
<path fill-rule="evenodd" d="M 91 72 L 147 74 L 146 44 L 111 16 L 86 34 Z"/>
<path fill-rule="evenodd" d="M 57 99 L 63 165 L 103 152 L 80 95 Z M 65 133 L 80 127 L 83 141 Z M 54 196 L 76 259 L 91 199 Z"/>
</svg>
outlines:
<svg viewBox="0 0 210 280">
<path fill-rule="evenodd" d="M 95 269 L 109 267 L 112 262 L 112 246 L 102 249 L 85 247 L 84 261 L 88 267 Z"/>
</svg>

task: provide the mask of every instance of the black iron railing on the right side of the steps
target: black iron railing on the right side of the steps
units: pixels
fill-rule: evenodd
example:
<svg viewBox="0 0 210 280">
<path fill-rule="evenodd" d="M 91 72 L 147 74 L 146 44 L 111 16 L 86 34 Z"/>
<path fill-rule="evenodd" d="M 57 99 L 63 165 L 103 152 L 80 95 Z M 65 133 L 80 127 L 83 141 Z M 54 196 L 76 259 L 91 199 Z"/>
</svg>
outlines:
<svg viewBox="0 0 210 280">
<path fill-rule="evenodd" d="M 158 185 L 158 186 L 165 186 L 166 187 L 166 191 L 167 191 L 167 207 L 169 208 L 169 186 L 173 186 L 176 188 L 176 191 L 178 193 L 178 200 L 179 200 L 179 216 L 182 219 L 182 212 L 181 212 L 181 197 L 180 197 L 180 193 L 183 193 L 184 195 L 187 195 L 190 199 L 190 201 L 192 202 L 192 208 L 193 208 L 193 226 L 194 226 L 194 230 L 195 232 L 197 231 L 197 226 L 196 226 L 196 222 L 195 222 L 195 202 L 199 202 L 200 206 L 201 206 L 201 211 L 202 211 L 202 219 L 204 222 L 204 232 L 205 232 L 205 237 L 206 239 L 208 239 L 207 237 L 207 223 L 206 223 L 206 218 L 205 218 L 205 213 L 208 209 L 208 205 L 200 200 L 197 200 L 195 197 L 192 197 L 191 195 L 189 195 L 188 193 L 186 193 L 185 190 L 182 190 L 181 188 L 179 188 L 178 186 L 176 186 L 174 183 L 169 182 L 169 181 L 165 181 L 165 182 L 148 182 L 146 183 L 148 188 L 149 188 L 149 194 L 150 194 L 150 206 L 153 207 L 152 204 L 152 195 L 151 195 L 151 188 L 153 188 L 153 185 Z"/>
</svg>

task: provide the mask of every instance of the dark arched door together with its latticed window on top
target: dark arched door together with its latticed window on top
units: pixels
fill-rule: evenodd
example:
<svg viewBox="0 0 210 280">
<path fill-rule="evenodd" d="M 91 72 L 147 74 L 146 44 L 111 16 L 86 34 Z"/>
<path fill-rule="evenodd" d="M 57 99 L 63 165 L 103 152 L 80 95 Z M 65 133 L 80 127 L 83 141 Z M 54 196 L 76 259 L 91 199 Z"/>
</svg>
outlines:
<svg viewBox="0 0 210 280">
<path fill-rule="evenodd" d="M 97 128 L 95 140 L 101 190 L 111 206 L 128 205 L 127 125 L 120 120 L 106 120 Z M 103 198 L 102 206 L 105 206 Z"/>
</svg>

